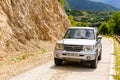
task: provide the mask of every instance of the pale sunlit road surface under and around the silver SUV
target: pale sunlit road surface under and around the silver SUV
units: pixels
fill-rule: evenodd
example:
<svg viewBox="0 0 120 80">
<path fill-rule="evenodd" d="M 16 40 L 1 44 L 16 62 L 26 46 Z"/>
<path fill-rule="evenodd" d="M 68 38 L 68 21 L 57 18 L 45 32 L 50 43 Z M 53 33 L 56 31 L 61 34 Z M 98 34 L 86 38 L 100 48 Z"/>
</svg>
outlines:
<svg viewBox="0 0 120 80">
<path fill-rule="evenodd" d="M 102 60 L 99 61 L 97 69 L 79 63 L 55 66 L 54 61 L 51 60 L 11 80 L 109 80 L 113 41 L 103 38 L 102 45 Z"/>
</svg>

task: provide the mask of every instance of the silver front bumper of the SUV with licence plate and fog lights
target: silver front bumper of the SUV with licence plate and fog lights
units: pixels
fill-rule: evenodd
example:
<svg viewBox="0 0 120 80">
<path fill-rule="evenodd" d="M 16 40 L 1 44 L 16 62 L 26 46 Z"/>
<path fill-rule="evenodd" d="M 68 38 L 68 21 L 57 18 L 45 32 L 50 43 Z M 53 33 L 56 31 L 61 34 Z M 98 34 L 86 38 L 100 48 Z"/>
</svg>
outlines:
<svg viewBox="0 0 120 80">
<path fill-rule="evenodd" d="M 91 60 L 95 60 L 95 58 L 97 57 L 97 53 L 92 51 L 71 52 L 71 51 L 56 50 L 54 51 L 54 57 L 63 60 L 70 59 L 71 61 L 72 59 L 91 61 Z"/>
</svg>

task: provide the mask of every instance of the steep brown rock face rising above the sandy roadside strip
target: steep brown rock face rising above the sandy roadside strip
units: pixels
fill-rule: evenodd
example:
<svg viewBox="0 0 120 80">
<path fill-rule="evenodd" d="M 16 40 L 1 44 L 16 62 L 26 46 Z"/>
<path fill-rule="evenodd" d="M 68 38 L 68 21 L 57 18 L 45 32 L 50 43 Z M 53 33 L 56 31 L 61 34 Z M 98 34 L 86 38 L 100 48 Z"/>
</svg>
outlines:
<svg viewBox="0 0 120 80">
<path fill-rule="evenodd" d="M 70 26 L 57 0 L 0 0 L 0 50 L 41 47 Z"/>
</svg>

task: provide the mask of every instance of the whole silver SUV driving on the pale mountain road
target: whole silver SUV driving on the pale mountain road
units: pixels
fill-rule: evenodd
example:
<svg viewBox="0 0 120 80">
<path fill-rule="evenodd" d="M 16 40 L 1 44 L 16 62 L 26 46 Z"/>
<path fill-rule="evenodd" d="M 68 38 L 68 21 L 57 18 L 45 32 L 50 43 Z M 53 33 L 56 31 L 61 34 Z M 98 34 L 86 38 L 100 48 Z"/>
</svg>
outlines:
<svg viewBox="0 0 120 80">
<path fill-rule="evenodd" d="M 56 43 L 55 64 L 61 65 L 63 61 L 79 61 L 88 62 L 91 68 L 97 68 L 102 54 L 101 39 L 97 28 L 70 27 L 64 38 Z"/>
</svg>

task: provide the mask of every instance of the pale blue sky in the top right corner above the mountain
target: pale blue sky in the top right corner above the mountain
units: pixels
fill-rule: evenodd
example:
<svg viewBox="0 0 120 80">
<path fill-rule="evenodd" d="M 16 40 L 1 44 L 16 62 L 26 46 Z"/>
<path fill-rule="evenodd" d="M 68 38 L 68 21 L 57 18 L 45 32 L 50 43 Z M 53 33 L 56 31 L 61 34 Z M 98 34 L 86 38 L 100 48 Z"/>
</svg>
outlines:
<svg viewBox="0 0 120 80">
<path fill-rule="evenodd" d="M 91 1 L 103 2 L 103 3 L 110 4 L 116 8 L 120 8 L 120 0 L 91 0 Z"/>
</svg>

